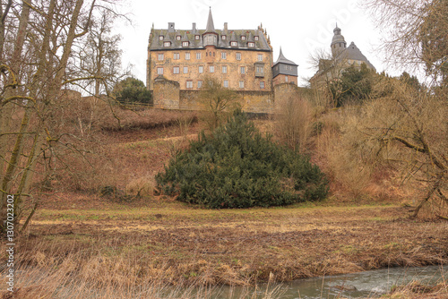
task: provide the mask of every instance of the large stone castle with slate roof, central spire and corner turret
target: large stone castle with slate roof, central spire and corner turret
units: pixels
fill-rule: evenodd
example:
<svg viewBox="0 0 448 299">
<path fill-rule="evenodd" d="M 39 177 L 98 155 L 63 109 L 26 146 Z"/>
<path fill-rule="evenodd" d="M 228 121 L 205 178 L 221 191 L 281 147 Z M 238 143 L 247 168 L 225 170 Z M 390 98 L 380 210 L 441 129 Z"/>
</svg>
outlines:
<svg viewBox="0 0 448 299">
<path fill-rule="evenodd" d="M 198 94 L 207 77 L 240 94 L 247 112 L 270 113 L 276 96 L 297 90 L 297 64 L 283 56 L 273 63 L 270 38 L 256 30 L 215 29 L 211 10 L 205 30 L 152 26 L 148 45 L 147 87 L 154 107 L 199 109 Z M 288 83 L 288 86 L 282 83 Z M 292 86 L 294 85 L 294 86 Z"/>
</svg>

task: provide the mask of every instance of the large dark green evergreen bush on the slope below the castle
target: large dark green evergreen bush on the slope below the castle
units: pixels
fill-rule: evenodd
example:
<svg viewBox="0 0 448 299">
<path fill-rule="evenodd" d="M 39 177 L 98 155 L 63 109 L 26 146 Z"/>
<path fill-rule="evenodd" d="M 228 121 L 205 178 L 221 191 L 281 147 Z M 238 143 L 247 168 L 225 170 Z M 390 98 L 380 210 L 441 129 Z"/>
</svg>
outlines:
<svg viewBox="0 0 448 299">
<path fill-rule="evenodd" d="M 178 152 L 156 180 L 159 192 L 213 209 L 317 201 L 328 192 L 318 167 L 263 138 L 240 112 Z"/>
</svg>

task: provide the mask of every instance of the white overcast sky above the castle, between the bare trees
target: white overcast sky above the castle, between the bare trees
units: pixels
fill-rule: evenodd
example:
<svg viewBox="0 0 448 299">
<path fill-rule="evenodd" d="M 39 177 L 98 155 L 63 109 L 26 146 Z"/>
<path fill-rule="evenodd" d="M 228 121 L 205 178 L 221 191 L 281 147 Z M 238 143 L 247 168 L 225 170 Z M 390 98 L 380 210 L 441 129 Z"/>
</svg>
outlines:
<svg viewBox="0 0 448 299">
<path fill-rule="evenodd" d="M 228 30 L 255 30 L 263 23 L 271 36 L 274 62 L 281 47 L 284 56 L 298 64 L 299 85 L 304 85 L 300 78 L 315 73 L 309 63 L 315 49 L 330 52 L 336 21 L 347 46 L 355 42 L 377 72 L 384 70 L 383 59 L 375 51 L 379 32 L 368 13 L 358 6 L 358 0 L 128 0 L 124 10 L 132 13 L 129 17 L 134 25 L 117 24 L 118 32 L 123 35 L 124 66 L 133 64 L 134 75 L 146 82 L 152 23 L 155 29 L 167 29 L 168 22 L 175 22 L 176 29 L 189 30 L 195 22 L 198 29 L 205 29 L 210 6 L 215 29 L 222 29 L 224 22 L 228 22 Z"/>
</svg>

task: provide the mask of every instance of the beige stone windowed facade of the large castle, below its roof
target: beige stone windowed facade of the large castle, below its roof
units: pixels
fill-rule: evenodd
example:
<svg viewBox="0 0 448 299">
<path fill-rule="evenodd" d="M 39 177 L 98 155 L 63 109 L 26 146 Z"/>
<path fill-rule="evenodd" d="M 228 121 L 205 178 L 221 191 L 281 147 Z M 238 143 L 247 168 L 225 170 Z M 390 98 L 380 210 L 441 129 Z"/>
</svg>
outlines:
<svg viewBox="0 0 448 299">
<path fill-rule="evenodd" d="M 163 76 L 180 90 L 200 90 L 206 76 L 232 90 L 271 91 L 271 52 L 232 48 L 153 50 L 148 53 L 148 87 Z"/>
</svg>

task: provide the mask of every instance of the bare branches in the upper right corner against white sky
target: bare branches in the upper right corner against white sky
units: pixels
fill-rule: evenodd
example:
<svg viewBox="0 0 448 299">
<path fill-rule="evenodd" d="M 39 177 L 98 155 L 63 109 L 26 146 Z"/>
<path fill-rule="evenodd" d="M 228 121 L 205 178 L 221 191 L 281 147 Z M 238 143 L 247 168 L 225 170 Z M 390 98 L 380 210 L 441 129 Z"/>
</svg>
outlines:
<svg viewBox="0 0 448 299">
<path fill-rule="evenodd" d="M 447 85 L 448 3 L 444 0 L 365 0 L 383 33 L 387 62 L 410 71 L 424 68 Z"/>
</svg>

